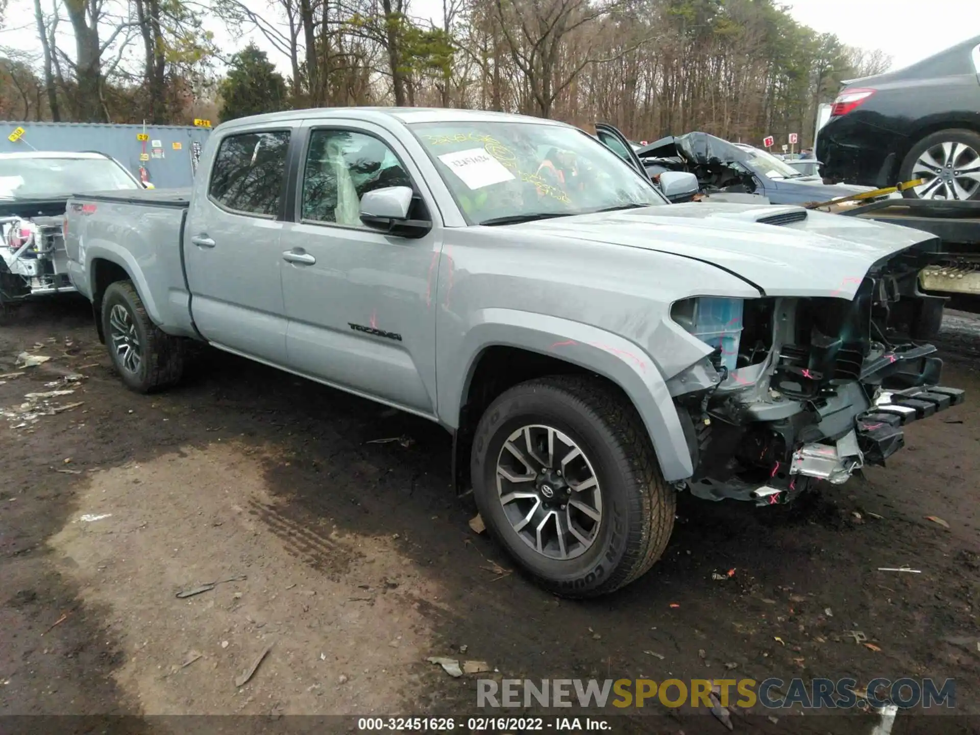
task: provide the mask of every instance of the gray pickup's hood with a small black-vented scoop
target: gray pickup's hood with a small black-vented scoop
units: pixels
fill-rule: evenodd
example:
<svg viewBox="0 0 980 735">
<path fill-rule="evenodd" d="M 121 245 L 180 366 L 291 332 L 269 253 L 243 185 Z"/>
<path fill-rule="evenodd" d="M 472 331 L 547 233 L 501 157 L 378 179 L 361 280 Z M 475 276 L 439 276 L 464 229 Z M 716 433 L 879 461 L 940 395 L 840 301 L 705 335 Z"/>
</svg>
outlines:
<svg viewBox="0 0 980 735">
<path fill-rule="evenodd" d="M 766 223 L 769 221 L 772 223 Z M 691 202 L 502 227 L 528 236 L 642 248 L 711 264 L 765 296 L 853 299 L 872 265 L 928 232 L 802 207 Z M 651 276 L 657 277 L 656 266 Z M 712 295 L 710 289 L 706 295 Z M 714 294 L 723 295 L 723 294 Z"/>
</svg>

